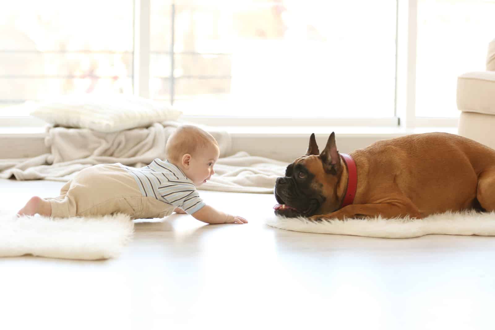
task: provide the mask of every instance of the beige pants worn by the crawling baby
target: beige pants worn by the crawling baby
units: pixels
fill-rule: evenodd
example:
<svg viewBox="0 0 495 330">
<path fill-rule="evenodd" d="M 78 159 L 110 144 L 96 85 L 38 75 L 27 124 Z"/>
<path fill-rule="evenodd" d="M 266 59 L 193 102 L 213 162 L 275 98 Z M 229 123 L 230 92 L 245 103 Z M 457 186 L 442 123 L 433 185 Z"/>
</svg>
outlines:
<svg viewBox="0 0 495 330">
<path fill-rule="evenodd" d="M 132 219 L 162 218 L 175 206 L 141 194 L 134 177 L 117 164 L 100 164 L 80 171 L 60 190 L 46 198 L 52 217 L 126 213 Z"/>
</svg>

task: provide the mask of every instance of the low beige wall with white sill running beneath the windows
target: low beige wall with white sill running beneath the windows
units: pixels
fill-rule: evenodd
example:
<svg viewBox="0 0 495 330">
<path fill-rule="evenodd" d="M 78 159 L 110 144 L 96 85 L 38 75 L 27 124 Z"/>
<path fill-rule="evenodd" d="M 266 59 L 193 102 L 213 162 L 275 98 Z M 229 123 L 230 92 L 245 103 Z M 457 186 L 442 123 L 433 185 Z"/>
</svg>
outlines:
<svg viewBox="0 0 495 330">
<path fill-rule="evenodd" d="M 305 153 L 311 133 L 315 133 L 318 145 L 324 145 L 329 134 L 335 131 L 339 151 L 343 153 L 364 148 L 378 140 L 412 133 L 432 131 L 457 133 L 457 127 L 439 127 L 438 129 L 435 127 L 417 127 L 409 131 L 399 127 L 363 126 L 221 126 L 218 128 L 230 133 L 232 153 L 245 151 L 250 155 L 286 162 L 292 162 Z M 5 145 L 6 148 L 3 148 L 0 158 L 25 158 L 40 155 L 41 149 L 44 147 L 43 139 L 46 132 L 46 126 L 0 127 L 0 145 L 2 138 L 9 139 L 11 140 L 8 142 L 9 145 L 14 143 L 18 149 L 10 151 Z M 22 139 L 31 140 L 26 140 L 23 144 Z M 33 139 L 38 141 L 34 145 Z"/>
</svg>

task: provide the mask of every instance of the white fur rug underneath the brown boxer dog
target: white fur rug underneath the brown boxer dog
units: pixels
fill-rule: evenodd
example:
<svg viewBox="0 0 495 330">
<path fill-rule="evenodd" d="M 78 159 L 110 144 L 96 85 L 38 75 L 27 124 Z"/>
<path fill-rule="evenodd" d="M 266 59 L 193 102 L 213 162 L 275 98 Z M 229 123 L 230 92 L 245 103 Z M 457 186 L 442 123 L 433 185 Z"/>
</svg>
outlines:
<svg viewBox="0 0 495 330">
<path fill-rule="evenodd" d="M 380 238 L 411 238 L 429 234 L 495 236 L 495 212 L 446 212 L 423 219 L 382 217 L 367 219 L 286 218 L 273 215 L 269 226 L 306 233 L 354 235 Z"/>
</svg>

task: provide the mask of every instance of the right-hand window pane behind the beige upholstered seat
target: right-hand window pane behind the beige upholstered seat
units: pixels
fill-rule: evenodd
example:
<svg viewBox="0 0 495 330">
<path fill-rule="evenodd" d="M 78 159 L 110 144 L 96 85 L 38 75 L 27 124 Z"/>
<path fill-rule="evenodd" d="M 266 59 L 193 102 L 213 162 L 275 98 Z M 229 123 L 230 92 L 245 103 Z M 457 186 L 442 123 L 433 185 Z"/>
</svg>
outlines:
<svg viewBox="0 0 495 330">
<path fill-rule="evenodd" d="M 457 117 L 457 76 L 485 71 L 495 0 L 418 0 L 416 116 Z"/>
</svg>

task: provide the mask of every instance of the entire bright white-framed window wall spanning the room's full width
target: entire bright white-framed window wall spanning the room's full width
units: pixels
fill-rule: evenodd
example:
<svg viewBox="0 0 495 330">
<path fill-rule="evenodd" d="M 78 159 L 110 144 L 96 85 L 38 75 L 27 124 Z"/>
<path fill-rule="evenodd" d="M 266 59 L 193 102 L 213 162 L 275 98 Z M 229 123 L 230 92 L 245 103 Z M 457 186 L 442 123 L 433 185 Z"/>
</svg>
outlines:
<svg viewBox="0 0 495 330">
<path fill-rule="evenodd" d="M 5 110 L 26 100 L 99 92 L 187 116 L 455 117 L 456 78 L 484 70 L 493 17 L 495 0 L 10 1 L 0 117 L 27 115 Z"/>
</svg>

